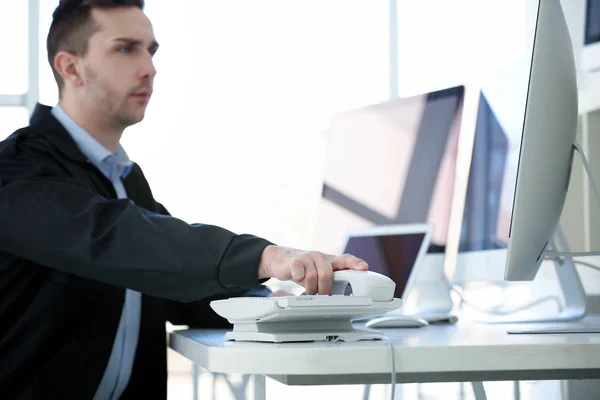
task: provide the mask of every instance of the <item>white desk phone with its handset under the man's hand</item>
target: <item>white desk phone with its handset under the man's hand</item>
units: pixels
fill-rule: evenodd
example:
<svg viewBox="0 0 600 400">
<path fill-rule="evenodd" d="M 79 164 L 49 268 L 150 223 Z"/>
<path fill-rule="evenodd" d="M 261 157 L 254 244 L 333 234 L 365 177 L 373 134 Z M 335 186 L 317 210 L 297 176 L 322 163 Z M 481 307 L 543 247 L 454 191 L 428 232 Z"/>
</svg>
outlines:
<svg viewBox="0 0 600 400">
<path fill-rule="evenodd" d="M 348 284 L 352 294 L 344 295 Z M 343 270 L 333 274 L 332 295 L 238 297 L 210 303 L 233 324 L 228 340 L 298 342 L 379 339 L 381 332 L 357 330 L 352 320 L 397 310 L 394 282 L 372 271 Z"/>
</svg>

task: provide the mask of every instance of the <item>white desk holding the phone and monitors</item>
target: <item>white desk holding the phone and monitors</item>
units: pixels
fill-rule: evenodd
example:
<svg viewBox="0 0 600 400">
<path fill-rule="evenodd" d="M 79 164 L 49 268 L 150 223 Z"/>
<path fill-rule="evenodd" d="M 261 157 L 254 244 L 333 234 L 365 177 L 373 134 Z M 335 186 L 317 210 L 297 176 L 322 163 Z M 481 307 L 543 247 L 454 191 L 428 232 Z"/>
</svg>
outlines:
<svg viewBox="0 0 600 400">
<path fill-rule="evenodd" d="M 600 334 L 509 335 L 508 327 L 461 321 L 383 331 L 394 343 L 398 383 L 600 378 Z M 288 385 L 391 379 L 391 350 L 384 341 L 269 344 L 229 342 L 224 334 L 175 331 L 169 345 L 208 371 L 268 376 Z M 264 378 L 257 382 L 255 394 L 264 398 Z"/>
</svg>

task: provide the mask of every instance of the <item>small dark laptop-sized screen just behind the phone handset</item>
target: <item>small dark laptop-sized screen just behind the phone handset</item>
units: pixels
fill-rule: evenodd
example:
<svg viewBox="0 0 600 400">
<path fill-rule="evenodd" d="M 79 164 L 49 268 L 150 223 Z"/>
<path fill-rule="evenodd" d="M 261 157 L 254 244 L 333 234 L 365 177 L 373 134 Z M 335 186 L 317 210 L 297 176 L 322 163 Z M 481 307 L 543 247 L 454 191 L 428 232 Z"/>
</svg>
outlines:
<svg viewBox="0 0 600 400">
<path fill-rule="evenodd" d="M 402 298 L 424 239 L 423 232 L 351 236 L 345 252 L 365 260 L 370 271 L 393 280 L 396 284 L 394 297 L 399 299 Z"/>
</svg>

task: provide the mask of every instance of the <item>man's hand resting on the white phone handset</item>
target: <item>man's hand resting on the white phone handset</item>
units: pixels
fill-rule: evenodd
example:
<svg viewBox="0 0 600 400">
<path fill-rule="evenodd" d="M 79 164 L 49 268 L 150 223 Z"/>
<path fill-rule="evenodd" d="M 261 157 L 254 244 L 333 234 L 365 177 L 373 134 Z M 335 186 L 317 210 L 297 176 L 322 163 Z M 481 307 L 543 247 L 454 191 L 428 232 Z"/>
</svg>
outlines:
<svg viewBox="0 0 600 400">
<path fill-rule="evenodd" d="M 292 280 L 302 285 L 306 294 L 331 294 L 333 271 L 342 269 L 365 271 L 369 266 L 350 254 L 333 256 L 270 245 L 262 253 L 258 278 Z"/>
</svg>

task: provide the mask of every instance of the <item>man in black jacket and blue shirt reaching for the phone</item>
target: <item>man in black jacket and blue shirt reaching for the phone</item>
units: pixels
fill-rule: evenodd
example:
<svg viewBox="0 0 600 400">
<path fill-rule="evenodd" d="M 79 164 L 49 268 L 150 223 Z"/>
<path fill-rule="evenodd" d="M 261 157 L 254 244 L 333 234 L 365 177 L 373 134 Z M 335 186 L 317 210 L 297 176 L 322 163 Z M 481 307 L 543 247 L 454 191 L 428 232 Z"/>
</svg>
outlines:
<svg viewBox="0 0 600 400">
<path fill-rule="evenodd" d="M 227 327 L 211 299 L 265 280 L 331 292 L 351 255 L 275 246 L 171 217 L 119 141 L 158 49 L 143 0 L 61 1 L 48 34 L 59 104 L 0 144 L 0 393 L 166 397 L 165 322 Z"/>
</svg>

